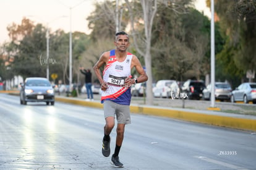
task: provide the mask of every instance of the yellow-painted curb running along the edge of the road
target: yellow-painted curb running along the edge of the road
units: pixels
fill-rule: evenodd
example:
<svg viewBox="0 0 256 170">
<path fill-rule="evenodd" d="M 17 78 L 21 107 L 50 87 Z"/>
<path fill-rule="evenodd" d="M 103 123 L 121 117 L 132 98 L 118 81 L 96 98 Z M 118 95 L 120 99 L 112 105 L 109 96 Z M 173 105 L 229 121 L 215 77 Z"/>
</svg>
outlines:
<svg viewBox="0 0 256 170">
<path fill-rule="evenodd" d="M 64 103 L 79 104 L 81 106 L 88 106 L 93 108 L 103 108 L 103 104 L 98 101 L 82 101 L 74 100 L 72 98 L 55 98 L 56 101 Z M 197 113 L 195 111 L 181 111 L 176 109 L 164 109 L 148 106 L 130 106 L 131 113 L 148 114 L 152 116 L 169 117 L 173 119 L 180 119 L 182 121 L 197 122 L 201 124 L 210 124 L 220 127 L 229 127 L 233 129 L 252 130 L 256 131 L 256 119 L 244 119 L 230 116 L 220 116 L 213 114 Z"/>
</svg>

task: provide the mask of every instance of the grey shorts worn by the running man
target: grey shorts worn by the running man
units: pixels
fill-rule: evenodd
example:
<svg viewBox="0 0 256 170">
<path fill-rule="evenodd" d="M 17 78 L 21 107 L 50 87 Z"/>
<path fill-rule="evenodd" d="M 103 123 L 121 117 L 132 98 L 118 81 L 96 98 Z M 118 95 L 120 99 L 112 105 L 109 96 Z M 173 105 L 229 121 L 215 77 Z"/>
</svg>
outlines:
<svg viewBox="0 0 256 170">
<path fill-rule="evenodd" d="M 115 117 L 118 124 L 130 124 L 130 106 L 114 103 L 113 101 L 104 101 L 104 115 L 106 117 Z"/>
</svg>

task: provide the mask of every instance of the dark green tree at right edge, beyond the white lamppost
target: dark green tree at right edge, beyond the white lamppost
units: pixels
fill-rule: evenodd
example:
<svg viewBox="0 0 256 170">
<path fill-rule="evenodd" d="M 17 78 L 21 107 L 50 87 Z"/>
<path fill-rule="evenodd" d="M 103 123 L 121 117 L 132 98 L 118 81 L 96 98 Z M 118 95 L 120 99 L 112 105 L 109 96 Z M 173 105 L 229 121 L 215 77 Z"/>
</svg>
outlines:
<svg viewBox="0 0 256 170">
<path fill-rule="evenodd" d="M 210 6 L 209 0 L 207 0 L 207 4 Z M 255 9 L 255 0 L 215 1 L 215 12 L 220 18 L 221 32 L 223 37 L 226 36 L 226 45 L 224 45 L 223 51 L 217 57 L 223 65 L 222 68 L 225 67 L 223 72 L 228 77 L 241 79 L 247 70 L 255 70 Z M 233 63 L 233 65 L 229 63 Z M 226 69 L 226 67 L 229 68 Z"/>
</svg>

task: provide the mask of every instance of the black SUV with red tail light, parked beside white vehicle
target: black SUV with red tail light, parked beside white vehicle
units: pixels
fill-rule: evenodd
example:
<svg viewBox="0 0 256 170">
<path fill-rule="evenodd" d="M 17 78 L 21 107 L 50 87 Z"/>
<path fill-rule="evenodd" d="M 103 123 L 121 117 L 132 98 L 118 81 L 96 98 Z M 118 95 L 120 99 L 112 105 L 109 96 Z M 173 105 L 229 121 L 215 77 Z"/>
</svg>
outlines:
<svg viewBox="0 0 256 170">
<path fill-rule="evenodd" d="M 200 100 L 203 96 L 205 83 L 201 80 L 187 80 L 182 86 L 182 92 L 187 93 L 189 99 Z"/>
</svg>

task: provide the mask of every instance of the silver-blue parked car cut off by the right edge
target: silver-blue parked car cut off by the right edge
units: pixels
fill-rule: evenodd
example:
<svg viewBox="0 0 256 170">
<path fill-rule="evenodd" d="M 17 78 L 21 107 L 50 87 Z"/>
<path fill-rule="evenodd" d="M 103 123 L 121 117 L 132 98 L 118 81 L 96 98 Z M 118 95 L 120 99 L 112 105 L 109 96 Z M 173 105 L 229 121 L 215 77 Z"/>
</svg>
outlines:
<svg viewBox="0 0 256 170">
<path fill-rule="evenodd" d="M 242 83 L 231 94 L 231 102 L 244 101 L 256 104 L 256 83 Z"/>
</svg>

